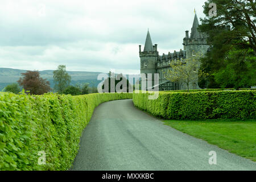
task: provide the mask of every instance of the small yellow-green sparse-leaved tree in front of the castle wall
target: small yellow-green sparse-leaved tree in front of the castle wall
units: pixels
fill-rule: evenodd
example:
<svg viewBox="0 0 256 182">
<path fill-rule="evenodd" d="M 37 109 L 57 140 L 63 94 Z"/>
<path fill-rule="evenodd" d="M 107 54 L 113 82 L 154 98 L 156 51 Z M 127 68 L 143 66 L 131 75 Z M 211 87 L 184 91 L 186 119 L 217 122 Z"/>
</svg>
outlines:
<svg viewBox="0 0 256 182">
<path fill-rule="evenodd" d="M 199 53 L 193 56 L 191 59 L 183 60 L 172 60 L 170 63 L 170 69 L 168 69 L 167 74 L 164 75 L 167 80 L 171 82 L 183 82 L 187 85 L 187 90 L 189 92 L 189 84 L 197 80 L 197 71 L 200 67 Z"/>
</svg>

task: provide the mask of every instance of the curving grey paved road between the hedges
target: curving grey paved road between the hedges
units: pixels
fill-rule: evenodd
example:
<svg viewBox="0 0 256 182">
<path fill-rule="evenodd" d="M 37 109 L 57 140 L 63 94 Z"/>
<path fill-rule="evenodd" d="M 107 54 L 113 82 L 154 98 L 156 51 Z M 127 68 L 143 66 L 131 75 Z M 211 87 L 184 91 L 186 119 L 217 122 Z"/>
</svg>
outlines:
<svg viewBox="0 0 256 182">
<path fill-rule="evenodd" d="M 251 160 L 164 125 L 132 100 L 98 106 L 80 145 L 73 170 L 256 170 Z M 209 151 L 216 151 L 216 165 Z"/>
</svg>

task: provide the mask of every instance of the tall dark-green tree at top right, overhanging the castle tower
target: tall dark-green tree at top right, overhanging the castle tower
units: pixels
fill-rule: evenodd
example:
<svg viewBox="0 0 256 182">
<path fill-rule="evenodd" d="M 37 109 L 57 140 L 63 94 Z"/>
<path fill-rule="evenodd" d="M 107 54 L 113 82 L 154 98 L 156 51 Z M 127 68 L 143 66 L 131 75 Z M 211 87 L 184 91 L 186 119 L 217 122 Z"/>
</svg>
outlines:
<svg viewBox="0 0 256 182">
<path fill-rule="evenodd" d="M 209 16 L 209 3 L 216 3 L 217 16 Z M 256 53 L 256 5 L 253 0 L 208 0 L 204 5 L 206 18 L 200 31 L 209 35 L 210 45 L 218 44 L 220 55 L 232 47 L 250 48 Z"/>
</svg>

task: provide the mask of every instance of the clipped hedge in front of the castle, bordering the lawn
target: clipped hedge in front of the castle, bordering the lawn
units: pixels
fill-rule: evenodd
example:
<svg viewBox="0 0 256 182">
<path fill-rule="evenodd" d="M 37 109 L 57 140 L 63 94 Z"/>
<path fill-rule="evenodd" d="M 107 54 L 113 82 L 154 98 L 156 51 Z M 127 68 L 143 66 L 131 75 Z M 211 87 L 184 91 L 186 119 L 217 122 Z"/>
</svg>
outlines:
<svg viewBox="0 0 256 182">
<path fill-rule="evenodd" d="M 157 100 L 149 93 L 134 93 L 139 109 L 167 119 L 255 118 L 256 91 L 159 92 Z"/>
</svg>

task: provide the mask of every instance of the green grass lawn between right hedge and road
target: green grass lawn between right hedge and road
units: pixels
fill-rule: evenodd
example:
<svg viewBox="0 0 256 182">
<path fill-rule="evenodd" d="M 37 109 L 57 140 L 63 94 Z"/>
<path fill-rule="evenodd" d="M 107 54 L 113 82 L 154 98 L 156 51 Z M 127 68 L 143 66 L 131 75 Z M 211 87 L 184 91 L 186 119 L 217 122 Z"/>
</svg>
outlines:
<svg viewBox="0 0 256 182">
<path fill-rule="evenodd" d="M 166 125 L 256 162 L 256 120 L 166 120 Z"/>
</svg>

